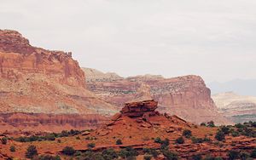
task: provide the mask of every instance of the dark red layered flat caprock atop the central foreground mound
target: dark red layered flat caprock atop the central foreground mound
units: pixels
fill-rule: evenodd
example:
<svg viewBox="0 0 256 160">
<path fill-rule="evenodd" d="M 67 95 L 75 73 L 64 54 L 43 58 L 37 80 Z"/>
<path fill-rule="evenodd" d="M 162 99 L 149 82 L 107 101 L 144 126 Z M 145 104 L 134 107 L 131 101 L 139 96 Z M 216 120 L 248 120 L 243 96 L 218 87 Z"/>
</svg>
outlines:
<svg viewBox="0 0 256 160">
<path fill-rule="evenodd" d="M 123 116 L 127 117 L 143 117 L 144 115 L 155 115 L 157 108 L 157 101 L 143 100 L 137 102 L 125 103 L 125 106 L 120 111 Z"/>
</svg>

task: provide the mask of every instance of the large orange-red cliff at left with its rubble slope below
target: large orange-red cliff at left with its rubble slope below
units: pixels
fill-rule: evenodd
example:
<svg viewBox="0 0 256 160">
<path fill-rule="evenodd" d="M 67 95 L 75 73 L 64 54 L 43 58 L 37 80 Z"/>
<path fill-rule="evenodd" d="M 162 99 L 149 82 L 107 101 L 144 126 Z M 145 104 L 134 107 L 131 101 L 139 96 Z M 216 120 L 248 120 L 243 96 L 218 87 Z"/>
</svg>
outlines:
<svg viewBox="0 0 256 160">
<path fill-rule="evenodd" d="M 84 71 L 72 53 L 36 48 L 19 32 L 0 30 L 0 112 L 109 115 L 115 111 L 85 88 Z"/>
</svg>

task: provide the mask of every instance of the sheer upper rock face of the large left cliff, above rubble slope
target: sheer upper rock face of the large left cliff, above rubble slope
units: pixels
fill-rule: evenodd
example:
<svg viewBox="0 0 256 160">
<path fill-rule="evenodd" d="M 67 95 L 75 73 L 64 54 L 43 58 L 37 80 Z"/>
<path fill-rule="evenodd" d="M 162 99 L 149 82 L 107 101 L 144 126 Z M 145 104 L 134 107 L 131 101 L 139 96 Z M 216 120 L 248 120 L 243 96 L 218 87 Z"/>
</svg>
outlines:
<svg viewBox="0 0 256 160">
<path fill-rule="evenodd" d="M 0 30 L 0 76 L 24 80 L 29 73 L 71 86 L 85 85 L 84 71 L 70 53 L 35 48 L 19 32 Z"/>
</svg>

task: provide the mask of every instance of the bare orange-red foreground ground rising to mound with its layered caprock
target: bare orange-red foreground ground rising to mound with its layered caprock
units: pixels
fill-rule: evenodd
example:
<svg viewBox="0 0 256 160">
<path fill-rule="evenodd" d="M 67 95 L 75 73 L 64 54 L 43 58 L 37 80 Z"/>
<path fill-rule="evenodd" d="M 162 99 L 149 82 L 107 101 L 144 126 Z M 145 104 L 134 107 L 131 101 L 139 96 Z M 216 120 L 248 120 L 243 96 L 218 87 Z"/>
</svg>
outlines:
<svg viewBox="0 0 256 160">
<path fill-rule="evenodd" d="M 110 122 L 103 125 L 100 129 L 86 131 L 79 134 L 79 139 L 73 136 L 57 138 L 51 141 L 26 142 L 20 143 L 9 140 L 7 145 L 0 144 L 0 157 L 18 157 L 24 158 L 26 148 L 29 145 L 37 146 L 39 154 L 60 155 L 67 158 L 61 152 L 65 146 L 73 146 L 76 151 L 88 151 L 88 144 L 94 143 L 96 146 L 93 151 L 103 151 L 104 149 L 113 148 L 116 151 L 131 146 L 137 150 L 142 159 L 143 148 L 153 148 L 160 150 L 160 143 L 154 142 L 156 137 L 161 140 L 169 139 L 170 151 L 177 152 L 181 159 L 191 159 L 193 155 L 201 154 L 220 156 L 227 158 L 227 152 L 230 150 L 251 152 L 256 147 L 256 138 L 245 136 L 232 137 L 226 135 L 226 140 L 218 142 L 214 139 L 218 128 L 208 128 L 188 123 L 180 117 L 161 114 L 157 109 L 157 102 L 154 100 L 143 100 L 126 103 L 119 113 L 116 113 Z M 192 143 L 191 139 L 184 138 L 183 144 L 177 145 L 175 140 L 182 136 L 183 130 L 189 129 L 196 138 L 207 141 L 202 143 Z M 116 140 L 121 140 L 121 145 L 116 145 Z M 10 146 L 15 146 L 16 151 L 9 151 Z M 163 155 L 155 159 L 164 159 Z"/>
</svg>

